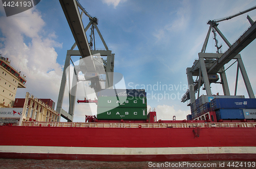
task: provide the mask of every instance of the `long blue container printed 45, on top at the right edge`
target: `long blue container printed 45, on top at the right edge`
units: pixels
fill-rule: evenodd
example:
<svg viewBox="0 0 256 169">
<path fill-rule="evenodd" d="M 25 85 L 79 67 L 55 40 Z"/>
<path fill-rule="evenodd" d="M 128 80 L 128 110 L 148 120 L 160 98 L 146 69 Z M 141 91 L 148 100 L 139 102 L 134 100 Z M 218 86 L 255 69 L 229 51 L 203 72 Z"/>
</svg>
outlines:
<svg viewBox="0 0 256 169">
<path fill-rule="evenodd" d="M 211 100 L 211 107 L 217 109 L 256 108 L 256 99 L 216 98 Z"/>
</svg>

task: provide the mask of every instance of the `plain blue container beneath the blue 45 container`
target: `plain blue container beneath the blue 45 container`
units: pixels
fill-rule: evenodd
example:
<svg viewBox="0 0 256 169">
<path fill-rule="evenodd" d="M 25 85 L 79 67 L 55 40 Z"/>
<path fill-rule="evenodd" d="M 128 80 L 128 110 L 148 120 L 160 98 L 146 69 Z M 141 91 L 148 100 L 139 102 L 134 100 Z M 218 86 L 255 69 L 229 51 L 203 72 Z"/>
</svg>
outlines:
<svg viewBox="0 0 256 169">
<path fill-rule="evenodd" d="M 219 109 L 216 111 L 217 120 L 242 120 L 244 118 L 243 109 Z"/>
</svg>

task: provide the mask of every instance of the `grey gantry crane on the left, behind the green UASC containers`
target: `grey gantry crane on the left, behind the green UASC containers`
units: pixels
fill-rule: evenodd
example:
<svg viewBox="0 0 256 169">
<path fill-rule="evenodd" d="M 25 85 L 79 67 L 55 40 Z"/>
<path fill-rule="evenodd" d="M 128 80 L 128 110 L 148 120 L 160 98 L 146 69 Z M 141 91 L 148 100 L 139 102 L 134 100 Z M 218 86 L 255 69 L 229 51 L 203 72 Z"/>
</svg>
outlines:
<svg viewBox="0 0 256 169">
<path fill-rule="evenodd" d="M 70 26 L 75 43 L 71 49 L 67 51 L 56 110 L 60 113 L 61 117 L 68 120 L 68 122 L 72 122 L 77 83 L 79 81 L 78 72 L 82 72 L 84 79 L 91 82 L 90 87 L 93 88 L 95 92 L 102 90 L 102 88 L 112 88 L 115 54 L 112 53 L 106 45 L 98 29 L 98 19 L 96 17 L 92 17 L 77 0 L 59 0 L 59 2 Z M 85 14 L 90 20 L 86 27 L 83 26 L 82 14 Z M 86 32 L 90 27 L 90 42 L 88 42 Z M 95 47 L 95 29 L 105 50 L 97 50 Z M 76 46 L 78 50 L 74 50 Z M 78 65 L 74 65 L 71 58 L 72 56 L 80 56 Z M 101 57 L 106 57 L 106 60 L 103 60 Z M 73 63 L 73 66 L 70 66 L 70 62 Z M 70 70 L 71 67 L 74 67 L 73 75 L 70 74 L 70 72 L 72 72 Z M 101 86 L 100 75 L 102 74 L 105 74 L 105 87 Z M 67 79 L 69 79 L 69 112 L 62 109 Z"/>
</svg>

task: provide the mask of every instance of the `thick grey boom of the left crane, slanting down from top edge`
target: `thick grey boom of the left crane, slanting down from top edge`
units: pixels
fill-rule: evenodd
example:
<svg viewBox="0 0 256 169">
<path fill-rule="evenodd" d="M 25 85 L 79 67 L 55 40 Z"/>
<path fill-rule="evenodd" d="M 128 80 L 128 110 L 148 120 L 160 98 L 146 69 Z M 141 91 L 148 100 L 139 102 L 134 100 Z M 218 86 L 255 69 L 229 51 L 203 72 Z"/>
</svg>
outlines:
<svg viewBox="0 0 256 169">
<path fill-rule="evenodd" d="M 84 32 L 84 27 L 76 4 L 76 0 L 59 0 L 62 10 L 67 18 L 70 30 L 80 51 L 81 57 L 86 58 L 92 55 L 90 46 Z"/>
</svg>

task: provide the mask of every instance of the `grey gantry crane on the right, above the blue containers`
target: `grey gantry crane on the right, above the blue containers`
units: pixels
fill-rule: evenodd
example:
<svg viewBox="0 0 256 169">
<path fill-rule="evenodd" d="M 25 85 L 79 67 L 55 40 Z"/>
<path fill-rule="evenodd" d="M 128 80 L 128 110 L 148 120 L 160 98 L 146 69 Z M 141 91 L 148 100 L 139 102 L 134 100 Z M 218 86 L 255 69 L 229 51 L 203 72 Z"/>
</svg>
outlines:
<svg viewBox="0 0 256 169">
<path fill-rule="evenodd" d="M 249 20 L 251 26 L 232 45 L 228 42 L 228 40 L 225 38 L 225 36 L 221 33 L 221 31 L 217 27 L 218 23 L 221 21 L 229 20 L 233 17 L 237 17 L 239 15 L 242 15 L 254 9 L 256 9 L 256 6 L 228 17 L 208 21 L 207 24 L 209 24 L 210 26 L 209 26 L 209 30 L 207 32 L 202 50 L 200 53 L 198 53 L 199 59 L 194 62 L 194 65 L 192 67 L 186 69 L 189 89 L 183 95 L 181 102 L 188 101 L 189 99 L 190 99 L 190 102 L 188 103 L 188 105 L 190 105 L 190 103 L 195 102 L 196 100 L 195 94 L 197 92 L 198 97 L 200 96 L 200 88 L 202 85 L 204 85 L 203 89 L 206 90 L 206 94 L 212 95 L 211 89 L 210 89 L 210 83 L 221 83 L 224 95 L 229 96 L 230 92 L 228 88 L 228 82 L 226 78 L 224 65 L 233 59 L 236 60 L 236 62 L 238 62 L 236 87 L 235 87 L 234 95 L 237 94 L 238 72 L 240 69 L 249 98 L 255 98 L 250 85 L 248 75 L 246 73 L 246 70 L 239 52 L 241 52 L 248 44 L 250 44 L 256 38 L 256 23 L 249 17 L 249 15 L 247 15 L 247 19 Z M 216 53 L 205 53 L 210 32 L 214 33 L 214 39 L 217 47 Z M 220 51 L 222 45 L 220 46 L 218 45 L 216 32 L 220 35 L 220 37 L 224 40 L 224 42 L 229 47 L 224 53 L 221 53 Z M 217 73 L 220 74 L 220 78 L 221 78 L 220 82 L 218 81 L 219 75 Z M 196 81 L 194 81 L 193 76 L 197 76 Z"/>
</svg>

